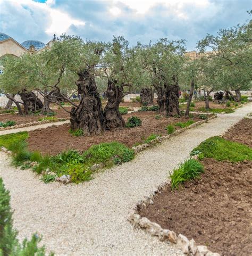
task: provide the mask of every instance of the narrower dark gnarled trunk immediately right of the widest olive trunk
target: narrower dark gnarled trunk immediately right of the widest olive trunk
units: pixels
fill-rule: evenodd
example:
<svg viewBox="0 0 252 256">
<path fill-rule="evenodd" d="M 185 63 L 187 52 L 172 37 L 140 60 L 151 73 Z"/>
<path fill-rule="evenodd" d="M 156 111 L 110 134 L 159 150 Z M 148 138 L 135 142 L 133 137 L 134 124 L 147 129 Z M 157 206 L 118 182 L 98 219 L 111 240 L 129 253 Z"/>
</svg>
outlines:
<svg viewBox="0 0 252 256">
<path fill-rule="evenodd" d="M 116 81 L 108 80 L 107 105 L 104 109 L 106 129 L 115 130 L 125 127 L 125 121 L 119 112 L 119 104 L 124 97 L 123 86 L 117 86 Z"/>
</svg>

